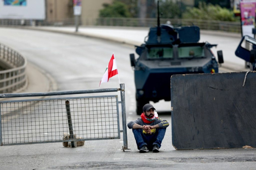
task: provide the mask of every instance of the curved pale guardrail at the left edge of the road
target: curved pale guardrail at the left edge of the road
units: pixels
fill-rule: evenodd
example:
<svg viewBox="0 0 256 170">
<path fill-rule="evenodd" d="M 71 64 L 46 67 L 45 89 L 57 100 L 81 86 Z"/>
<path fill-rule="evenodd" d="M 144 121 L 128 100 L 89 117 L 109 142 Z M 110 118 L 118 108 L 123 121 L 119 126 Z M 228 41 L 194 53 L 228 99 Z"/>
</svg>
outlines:
<svg viewBox="0 0 256 170">
<path fill-rule="evenodd" d="M 0 93 L 18 91 L 27 85 L 27 62 L 21 54 L 0 43 L 0 62 L 6 66 L 0 71 Z"/>
</svg>

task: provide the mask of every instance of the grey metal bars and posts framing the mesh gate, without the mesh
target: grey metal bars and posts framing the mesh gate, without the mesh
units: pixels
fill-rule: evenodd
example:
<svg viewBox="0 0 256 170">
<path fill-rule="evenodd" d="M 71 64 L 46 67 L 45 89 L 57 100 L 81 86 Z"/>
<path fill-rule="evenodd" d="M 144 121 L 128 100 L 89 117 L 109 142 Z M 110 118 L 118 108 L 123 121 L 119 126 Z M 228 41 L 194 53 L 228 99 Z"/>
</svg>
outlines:
<svg viewBox="0 0 256 170">
<path fill-rule="evenodd" d="M 117 92 L 120 91 L 121 94 L 121 101 L 118 101 L 117 97 L 117 115 L 118 115 L 118 136 L 120 138 L 120 133 L 123 133 L 123 150 L 128 149 L 127 144 L 127 127 L 126 127 L 126 109 L 125 109 L 125 84 L 120 84 L 120 88 L 102 88 L 102 89 L 91 89 L 91 90 L 76 90 L 76 91 L 56 91 L 56 92 L 40 92 L 40 93 L 7 93 L 7 94 L 0 94 L 0 98 L 11 98 L 11 97 L 35 97 L 35 96 L 54 96 L 54 95 L 71 95 L 71 94 L 90 94 L 90 93 L 105 93 L 105 92 Z M 99 96 L 91 96 L 91 97 L 99 97 Z M 108 97 L 108 96 L 106 96 Z M 111 95 L 110 97 L 113 97 Z M 67 97 L 65 99 L 78 99 L 81 97 Z M 56 99 L 64 99 L 64 98 L 56 98 Z M 37 99 L 35 99 L 37 100 Z M 54 99 L 41 99 L 43 100 L 54 100 Z M 33 101 L 32 100 L 15 100 L 15 102 L 19 101 Z M 38 100 L 37 100 L 38 101 Z M 1 103 L 7 103 L 7 102 L 14 102 L 14 101 L 2 101 Z M 42 142 L 30 142 L 30 143 L 16 143 L 17 144 L 33 144 L 33 143 L 51 143 L 51 142 L 71 142 L 71 146 L 75 147 L 74 142 L 76 141 L 85 141 L 88 139 L 75 139 L 73 137 L 73 129 L 72 129 L 72 120 L 70 119 L 70 108 L 69 108 L 69 102 L 66 101 L 66 113 L 67 113 L 67 120 L 68 120 L 68 126 L 69 131 L 71 135 L 71 139 L 65 139 L 62 141 L 42 141 Z M 121 112 L 122 112 L 122 130 L 120 130 L 119 125 L 119 107 L 118 104 L 121 104 Z M 1 110 L 0 110 L 1 113 Z M 3 144 L 2 142 L 2 114 L 0 114 L 0 146 L 4 145 L 15 145 L 15 144 Z M 109 139 L 109 138 L 107 138 Z M 112 138 L 111 138 L 112 139 Z"/>
</svg>

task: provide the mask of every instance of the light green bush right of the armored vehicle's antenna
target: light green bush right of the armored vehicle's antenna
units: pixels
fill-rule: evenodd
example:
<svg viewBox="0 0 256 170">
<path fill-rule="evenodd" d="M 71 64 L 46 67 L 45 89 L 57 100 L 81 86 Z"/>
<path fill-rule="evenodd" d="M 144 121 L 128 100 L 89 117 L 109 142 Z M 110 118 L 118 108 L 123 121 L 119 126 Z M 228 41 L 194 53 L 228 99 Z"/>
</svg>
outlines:
<svg viewBox="0 0 256 170">
<path fill-rule="evenodd" d="M 206 19 L 206 20 L 222 20 L 235 21 L 234 13 L 231 10 L 222 8 L 219 5 L 206 4 L 199 2 L 198 8 L 187 8 L 182 15 L 184 19 Z"/>
</svg>

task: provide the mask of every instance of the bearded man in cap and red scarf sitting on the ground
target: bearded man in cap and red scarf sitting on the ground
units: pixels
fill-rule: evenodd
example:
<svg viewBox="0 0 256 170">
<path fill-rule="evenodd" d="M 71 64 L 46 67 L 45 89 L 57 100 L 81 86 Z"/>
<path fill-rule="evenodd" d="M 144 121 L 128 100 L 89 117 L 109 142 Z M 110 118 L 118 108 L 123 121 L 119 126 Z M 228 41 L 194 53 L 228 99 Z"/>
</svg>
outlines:
<svg viewBox="0 0 256 170">
<path fill-rule="evenodd" d="M 136 144 L 140 153 L 149 151 L 159 152 L 166 128 L 167 120 L 158 118 L 152 104 L 145 104 L 142 108 L 141 118 L 130 121 L 127 126 L 133 129 Z"/>
</svg>

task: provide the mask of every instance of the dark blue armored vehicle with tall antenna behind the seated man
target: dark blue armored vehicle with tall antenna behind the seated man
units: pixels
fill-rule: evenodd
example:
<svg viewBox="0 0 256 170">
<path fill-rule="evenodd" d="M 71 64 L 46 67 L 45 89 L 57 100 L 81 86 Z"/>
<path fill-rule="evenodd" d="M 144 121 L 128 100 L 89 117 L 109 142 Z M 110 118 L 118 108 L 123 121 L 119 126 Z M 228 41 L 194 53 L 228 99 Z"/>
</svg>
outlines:
<svg viewBox="0 0 256 170">
<path fill-rule="evenodd" d="M 217 62 L 210 50 L 217 44 L 199 42 L 198 26 L 160 25 L 159 6 L 157 26 L 150 28 L 146 38 L 141 46 L 136 46 L 139 57 L 135 59 L 135 55 L 130 54 L 137 114 L 142 113 L 143 105 L 149 101 L 171 100 L 171 75 L 218 73 L 218 63 L 223 63 L 222 51 L 217 51 Z"/>
</svg>

